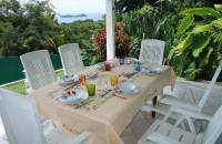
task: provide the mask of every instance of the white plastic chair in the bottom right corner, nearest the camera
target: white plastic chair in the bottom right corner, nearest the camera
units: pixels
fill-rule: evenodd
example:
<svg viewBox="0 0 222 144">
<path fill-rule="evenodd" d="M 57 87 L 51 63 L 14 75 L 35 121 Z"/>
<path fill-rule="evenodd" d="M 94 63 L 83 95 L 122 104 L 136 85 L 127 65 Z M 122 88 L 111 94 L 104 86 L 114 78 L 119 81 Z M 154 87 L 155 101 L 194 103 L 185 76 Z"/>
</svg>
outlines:
<svg viewBox="0 0 222 144">
<path fill-rule="evenodd" d="M 190 116 L 195 115 L 192 111 L 188 113 L 190 113 Z M 194 119 L 210 122 L 204 133 L 189 133 L 175 125 L 157 120 L 143 134 L 138 144 L 214 144 L 222 133 L 222 106 L 220 106 L 212 119 L 201 113 L 196 113 Z"/>
</svg>

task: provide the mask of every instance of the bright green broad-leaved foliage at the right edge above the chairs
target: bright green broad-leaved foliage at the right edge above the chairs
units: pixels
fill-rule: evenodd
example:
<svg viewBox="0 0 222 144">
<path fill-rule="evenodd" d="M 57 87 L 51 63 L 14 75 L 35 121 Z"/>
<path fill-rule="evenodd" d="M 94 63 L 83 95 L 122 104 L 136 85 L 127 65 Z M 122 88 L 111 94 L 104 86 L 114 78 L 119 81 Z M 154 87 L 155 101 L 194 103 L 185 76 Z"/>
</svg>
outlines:
<svg viewBox="0 0 222 144">
<path fill-rule="evenodd" d="M 188 79 L 212 78 L 222 60 L 222 4 L 181 12 L 176 42 L 168 59 Z"/>
</svg>

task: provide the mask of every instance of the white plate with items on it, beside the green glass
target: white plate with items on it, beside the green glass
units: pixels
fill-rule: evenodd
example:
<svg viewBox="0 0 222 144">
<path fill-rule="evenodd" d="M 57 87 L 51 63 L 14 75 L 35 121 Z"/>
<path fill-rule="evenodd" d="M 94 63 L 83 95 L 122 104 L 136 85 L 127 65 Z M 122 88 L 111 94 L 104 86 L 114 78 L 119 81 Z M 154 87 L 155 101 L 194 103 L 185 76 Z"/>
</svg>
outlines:
<svg viewBox="0 0 222 144">
<path fill-rule="evenodd" d="M 89 97 L 89 94 L 87 92 L 78 92 L 73 96 L 62 95 L 60 97 L 57 97 L 54 101 L 58 101 L 63 104 L 78 104 L 88 100 L 88 97 Z"/>
</svg>

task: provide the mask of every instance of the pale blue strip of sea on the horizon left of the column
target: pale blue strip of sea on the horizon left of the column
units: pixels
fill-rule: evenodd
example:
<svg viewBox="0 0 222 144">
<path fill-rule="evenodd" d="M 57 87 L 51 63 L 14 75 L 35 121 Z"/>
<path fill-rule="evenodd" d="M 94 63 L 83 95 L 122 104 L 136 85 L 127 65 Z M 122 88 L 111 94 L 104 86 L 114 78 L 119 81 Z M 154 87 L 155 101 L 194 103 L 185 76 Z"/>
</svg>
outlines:
<svg viewBox="0 0 222 144">
<path fill-rule="evenodd" d="M 84 20 L 103 20 L 103 13 L 85 13 L 87 17 L 69 17 L 69 18 L 62 18 L 58 17 L 58 22 L 59 23 L 71 23 L 73 21 L 84 21 Z"/>
</svg>

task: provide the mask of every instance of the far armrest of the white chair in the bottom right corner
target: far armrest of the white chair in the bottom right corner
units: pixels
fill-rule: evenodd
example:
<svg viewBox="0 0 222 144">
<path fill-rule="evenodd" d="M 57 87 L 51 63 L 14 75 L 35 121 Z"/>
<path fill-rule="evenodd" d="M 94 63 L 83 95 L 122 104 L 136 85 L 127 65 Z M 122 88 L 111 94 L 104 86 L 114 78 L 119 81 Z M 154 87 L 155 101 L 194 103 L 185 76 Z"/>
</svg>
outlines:
<svg viewBox="0 0 222 144">
<path fill-rule="evenodd" d="M 200 112 L 196 112 L 196 111 L 176 107 L 176 106 L 170 107 L 170 111 L 179 113 L 179 114 L 183 114 L 184 116 L 189 116 L 189 117 L 192 117 L 192 119 L 206 120 L 206 121 L 211 120 L 210 115 L 206 115 L 206 114 L 203 114 L 203 113 L 200 113 Z"/>
</svg>

